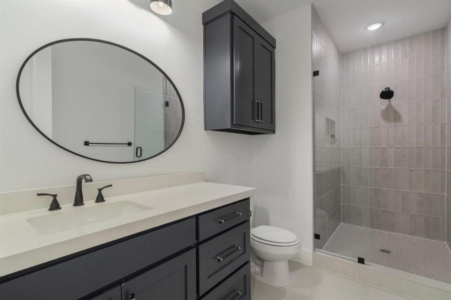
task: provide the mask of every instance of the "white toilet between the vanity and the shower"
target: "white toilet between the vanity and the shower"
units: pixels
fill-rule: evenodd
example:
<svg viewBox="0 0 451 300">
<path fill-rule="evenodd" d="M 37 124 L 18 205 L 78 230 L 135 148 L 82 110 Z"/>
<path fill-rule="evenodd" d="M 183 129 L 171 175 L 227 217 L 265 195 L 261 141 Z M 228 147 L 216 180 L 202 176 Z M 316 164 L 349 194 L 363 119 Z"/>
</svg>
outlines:
<svg viewBox="0 0 451 300">
<path fill-rule="evenodd" d="M 257 280 L 278 287 L 290 283 L 288 259 L 301 250 L 296 234 L 279 227 L 258 226 L 251 229 L 251 248 Z"/>
</svg>

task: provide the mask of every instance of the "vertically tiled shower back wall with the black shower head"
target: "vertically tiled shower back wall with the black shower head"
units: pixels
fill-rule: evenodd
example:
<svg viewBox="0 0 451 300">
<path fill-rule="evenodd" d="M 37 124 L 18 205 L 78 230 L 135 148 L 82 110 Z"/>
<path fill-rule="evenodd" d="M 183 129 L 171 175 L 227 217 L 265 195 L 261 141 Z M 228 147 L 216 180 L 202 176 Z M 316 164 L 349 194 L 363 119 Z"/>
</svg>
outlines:
<svg viewBox="0 0 451 300">
<path fill-rule="evenodd" d="M 445 43 L 442 28 L 342 54 L 342 222 L 446 239 Z"/>
</svg>

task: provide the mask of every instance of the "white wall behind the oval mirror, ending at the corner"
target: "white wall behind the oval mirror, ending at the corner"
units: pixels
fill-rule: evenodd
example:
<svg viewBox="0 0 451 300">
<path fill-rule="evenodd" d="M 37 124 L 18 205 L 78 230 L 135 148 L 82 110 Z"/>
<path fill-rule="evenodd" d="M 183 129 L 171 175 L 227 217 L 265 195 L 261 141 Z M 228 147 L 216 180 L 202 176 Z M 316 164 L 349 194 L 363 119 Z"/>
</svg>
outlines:
<svg viewBox="0 0 451 300">
<path fill-rule="evenodd" d="M 141 5 L 146 6 L 146 1 Z M 174 0 L 159 17 L 128 0 L 0 1 L 0 191 L 203 169 L 206 179 L 250 185 L 250 136 L 203 130 L 201 12 L 217 1 Z M 16 76 L 39 46 L 69 37 L 113 41 L 153 60 L 174 81 L 185 104 L 185 126 L 163 154 L 132 164 L 88 160 L 46 140 L 18 105 Z"/>
</svg>

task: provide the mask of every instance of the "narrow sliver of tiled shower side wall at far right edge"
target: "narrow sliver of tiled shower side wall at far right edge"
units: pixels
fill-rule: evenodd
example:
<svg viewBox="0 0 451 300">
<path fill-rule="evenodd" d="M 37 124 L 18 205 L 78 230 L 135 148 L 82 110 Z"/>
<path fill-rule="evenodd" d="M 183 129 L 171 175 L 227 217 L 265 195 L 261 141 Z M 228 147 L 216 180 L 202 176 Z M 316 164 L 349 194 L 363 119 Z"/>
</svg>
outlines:
<svg viewBox="0 0 451 300">
<path fill-rule="evenodd" d="M 446 242 L 451 249 L 451 20 L 446 33 Z"/>
</svg>

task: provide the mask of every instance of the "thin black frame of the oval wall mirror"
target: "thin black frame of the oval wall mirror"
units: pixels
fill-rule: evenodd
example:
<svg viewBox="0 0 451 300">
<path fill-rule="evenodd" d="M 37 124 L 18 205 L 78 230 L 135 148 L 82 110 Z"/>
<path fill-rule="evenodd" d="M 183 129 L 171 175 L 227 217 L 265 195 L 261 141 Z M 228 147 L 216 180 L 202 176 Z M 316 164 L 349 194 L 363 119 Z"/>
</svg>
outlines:
<svg viewBox="0 0 451 300">
<path fill-rule="evenodd" d="M 95 42 L 102 42 L 102 43 L 106 43 L 106 44 L 110 44 L 110 45 L 113 45 L 113 46 L 122 48 L 122 49 L 124 49 L 124 50 L 127 50 L 127 51 L 129 51 L 129 52 L 135 54 L 135 55 L 138 55 L 139 57 L 141 57 L 142 59 L 144 59 L 145 61 L 147 61 L 147 62 L 150 63 L 151 65 L 153 65 L 157 70 L 159 70 L 159 71 L 163 74 L 163 76 L 166 77 L 166 79 L 172 84 L 172 86 L 174 87 L 175 92 L 177 93 L 177 96 L 178 96 L 178 99 L 179 99 L 180 105 L 181 105 L 181 110 L 182 110 L 182 119 L 181 119 L 180 129 L 179 129 L 179 131 L 178 131 L 178 133 L 177 133 L 177 136 L 175 136 L 174 140 L 173 140 L 166 148 L 164 148 L 162 151 L 156 153 L 155 155 L 152 155 L 152 156 L 150 156 L 150 157 L 147 157 L 147 158 L 144 158 L 144 159 L 140 159 L 140 160 L 133 160 L 133 161 L 108 161 L 108 160 L 102 160 L 102 159 L 97 159 L 97 158 L 92 158 L 92 157 L 89 157 L 89 156 L 85 156 L 85 155 L 79 154 L 79 153 L 77 153 L 77 152 L 74 152 L 74 151 L 72 151 L 72 150 L 70 150 L 70 149 L 68 149 L 68 148 L 66 148 L 66 147 L 63 147 L 62 145 L 60 145 L 59 143 L 57 143 L 56 141 L 54 141 L 53 139 L 51 139 L 50 137 L 48 137 L 44 132 L 41 131 L 41 129 L 38 128 L 38 126 L 36 126 L 36 124 L 33 122 L 33 120 L 32 120 L 32 119 L 30 118 L 30 116 L 28 115 L 27 111 L 25 110 L 24 105 L 22 104 L 22 99 L 21 99 L 21 95 L 20 95 L 20 92 L 19 92 L 19 82 L 20 82 L 20 79 L 21 79 L 22 71 L 23 71 L 25 65 L 27 64 L 27 62 L 28 62 L 28 61 L 29 61 L 36 53 L 38 53 L 38 52 L 41 51 L 42 49 L 47 48 L 47 47 L 50 47 L 50 46 L 55 45 L 55 44 L 58 44 L 58 43 L 63 43 L 63 42 L 68 42 L 68 41 L 95 41 Z M 87 159 L 91 159 L 91 160 L 95 160 L 95 161 L 100 161 L 100 162 L 107 162 L 107 163 L 134 163 L 134 162 L 140 162 L 140 161 L 144 161 L 144 160 L 153 158 L 153 157 L 155 157 L 155 156 L 158 156 L 158 155 L 160 155 L 161 153 L 163 153 L 164 151 L 166 151 L 167 149 L 169 149 L 169 148 L 175 143 L 175 141 L 176 141 L 176 140 L 178 139 L 178 137 L 180 136 L 181 131 L 183 130 L 183 125 L 184 125 L 184 123 L 185 123 L 185 108 L 184 108 L 184 105 L 183 105 L 183 100 L 182 100 L 182 98 L 181 98 L 181 96 L 180 96 L 180 93 L 179 93 L 177 87 L 175 86 L 175 84 L 174 84 L 174 82 L 171 80 L 171 78 L 169 78 L 169 76 L 168 76 L 168 75 L 167 75 L 167 74 L 166 74 L 166 73 L 165 73 L 158 65 L 156 65 L 152 60 L 148 59 L 146 56 L 142 55 L 141 53 L 136 52 L 136 51 L 134 51 L 134 50 L 132 50 L 132 49 L 126 47 L 126 46 L 123 46 L 123 45 L 120 45 L 120 44 L 117 44 L 117 43 L 114 43 L 114 42 L 111 42 L 111 41 L 102 40 L 102 39 L 96 39 L 96 38 L 83 38 L 83 37 L 80 37 L 80 38 L 65 38 L 65 39 L 58 39 L 58 40 L 49 42 L 49 43 L 47 43 L 47 44 L 45 44 L 45 45 L 43 45 L 43 46 L 37 48 L 37 49 L 34 50 L 30 55 L 28 55 L 28 57 L 25 59 L 24 63 L 22 63 L 21 68 L 19 69 L 19 73 L 17 74 L 17 79 L 16 79 L 16 94 L 17 94 L 17 99 L 18 99 L 18 101 L 19 101 L 19 105 L 21 106 L 22 112 L 24 113 L 25 117 L 28 119 L 28 121 L 30 122 L 30 124 L 32 124 L 32 126 L 33 126 L 36 130 L 38 130 L 38 132 L 41 133 L 45 138 L 47 138 L 49 141 L 51 141 L 53 144 L 57 145 L 58 147 L 60 147 L 60 148 L 62 148 L 62 149 L 64 149 L 64 150 L 66 150 L 66 151 L 68 151 L 68 152 L 70 152 L 70 153 L 72 153 L 72 154 L 75 154 L 75 155 L 80 156 L 80 157 L 83 157 L 83 158 L 87 158 Z"/>
</svg>

